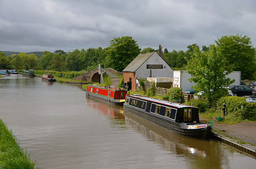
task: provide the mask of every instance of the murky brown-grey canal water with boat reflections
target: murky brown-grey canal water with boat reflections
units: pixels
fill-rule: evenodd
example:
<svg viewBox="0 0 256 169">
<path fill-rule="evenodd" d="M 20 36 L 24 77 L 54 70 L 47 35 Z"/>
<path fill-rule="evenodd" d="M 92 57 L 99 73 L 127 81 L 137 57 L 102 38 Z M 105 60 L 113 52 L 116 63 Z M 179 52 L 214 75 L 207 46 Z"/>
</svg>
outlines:
<svg viewBox="0 0 256 169">
<path fill-rule="evenodd" d="M 174 135 L 80 85 L 0 78 L 0 118 L 44 169 L 252 169 L 256 157 L 214 140 Z"/>
</svg>

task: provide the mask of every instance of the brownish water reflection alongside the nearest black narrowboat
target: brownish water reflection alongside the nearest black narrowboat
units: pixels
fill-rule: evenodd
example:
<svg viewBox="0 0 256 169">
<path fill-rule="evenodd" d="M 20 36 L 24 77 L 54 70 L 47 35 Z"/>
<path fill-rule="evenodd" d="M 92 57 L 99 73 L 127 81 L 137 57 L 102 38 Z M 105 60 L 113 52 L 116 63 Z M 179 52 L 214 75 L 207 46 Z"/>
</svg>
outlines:
<svg viewBox="0 0 256 169">
<path fill-rule="evenodd" d="M 179 136 L 141 118 L 134 118 L 129 113 L 124 112 L 124 115 L 127 126 L 148 140 L 157 143 L 166 151 L 185 157 L 187 160 L 184 163 L 190 167 L 230 168 L 230 163 L 227 163 L 230 160 L 228 158 L 229 152 L 224 147 L 225 145 L 213 140 L 198 140 Z"/>
</svg>

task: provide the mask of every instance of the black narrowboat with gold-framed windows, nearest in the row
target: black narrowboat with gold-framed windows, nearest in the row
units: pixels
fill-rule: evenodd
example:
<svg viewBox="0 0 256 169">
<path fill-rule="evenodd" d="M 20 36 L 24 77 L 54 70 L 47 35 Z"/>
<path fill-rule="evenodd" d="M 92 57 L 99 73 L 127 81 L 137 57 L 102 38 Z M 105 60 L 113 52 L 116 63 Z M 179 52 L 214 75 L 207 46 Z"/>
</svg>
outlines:
<svg viewBox="0 0 256 169">
<path fill-rule="evenodd" d="M 210 125 L 199 121 L 197 107 L 138 94 L 126 94 L 124 112 L 190 138 L 205 140 L 212 130 Z"/>
</svg>

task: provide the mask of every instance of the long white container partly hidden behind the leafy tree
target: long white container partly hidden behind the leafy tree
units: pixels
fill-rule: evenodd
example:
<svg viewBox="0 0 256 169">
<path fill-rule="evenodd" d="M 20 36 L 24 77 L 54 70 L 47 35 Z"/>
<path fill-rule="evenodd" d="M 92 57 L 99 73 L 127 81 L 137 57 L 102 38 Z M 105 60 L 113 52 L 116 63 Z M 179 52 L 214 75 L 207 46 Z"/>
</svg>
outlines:
<svg viewBox="0 0 256 169">
<path fill-rule="evenodd" d="M 240 85 L 241 81 L 241 72 L 234 71 L 230 73 L 227 78 L 235 79 L 236 81 L 231 85 Z M 178 78 L 178 81 L 177 79 Z M 191 78 L 191 75 L 187 73 L 187 71 L 174 71 L 173 73 L 173 83 L 175 87 L 182 88 L 182 91 L 190 89 L 191 86 L 196 85 L 194 82 L 188 81 Z"/>
</svg>

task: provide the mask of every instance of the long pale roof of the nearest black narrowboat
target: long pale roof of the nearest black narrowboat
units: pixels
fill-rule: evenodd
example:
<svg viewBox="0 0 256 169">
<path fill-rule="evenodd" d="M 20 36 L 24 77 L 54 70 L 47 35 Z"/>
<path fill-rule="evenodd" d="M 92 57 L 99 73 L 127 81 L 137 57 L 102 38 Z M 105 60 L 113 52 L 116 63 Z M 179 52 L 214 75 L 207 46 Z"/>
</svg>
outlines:
<svg viewBox="0 0 256 169">
<path fill-rule="evenodd" d="M 151 101 L 151 102 L 156 102 L 156 103 L 159 103 L 159 104 L 175 106 L 177 108 L 182 108 L 182 107 L 194 107 L 194 108 L 196 108 L 195 106 L 189 106 L 189 105 L 186 105 L 186 104 L 180 104 L 180 103 L 176 103 L 176 102 L 169 102 L 168 100 L 161 100 L 161 99 L 152 98 L 152 97 L 148 97 L 148 96 L 142 96 L 140 94 L 132 94 L 130 96 L 135 97 L 135 98 L 140 98 L 140 99 L 143 99 L 143 100 L 148 100 L 148 101 Z"/>
</svg>

